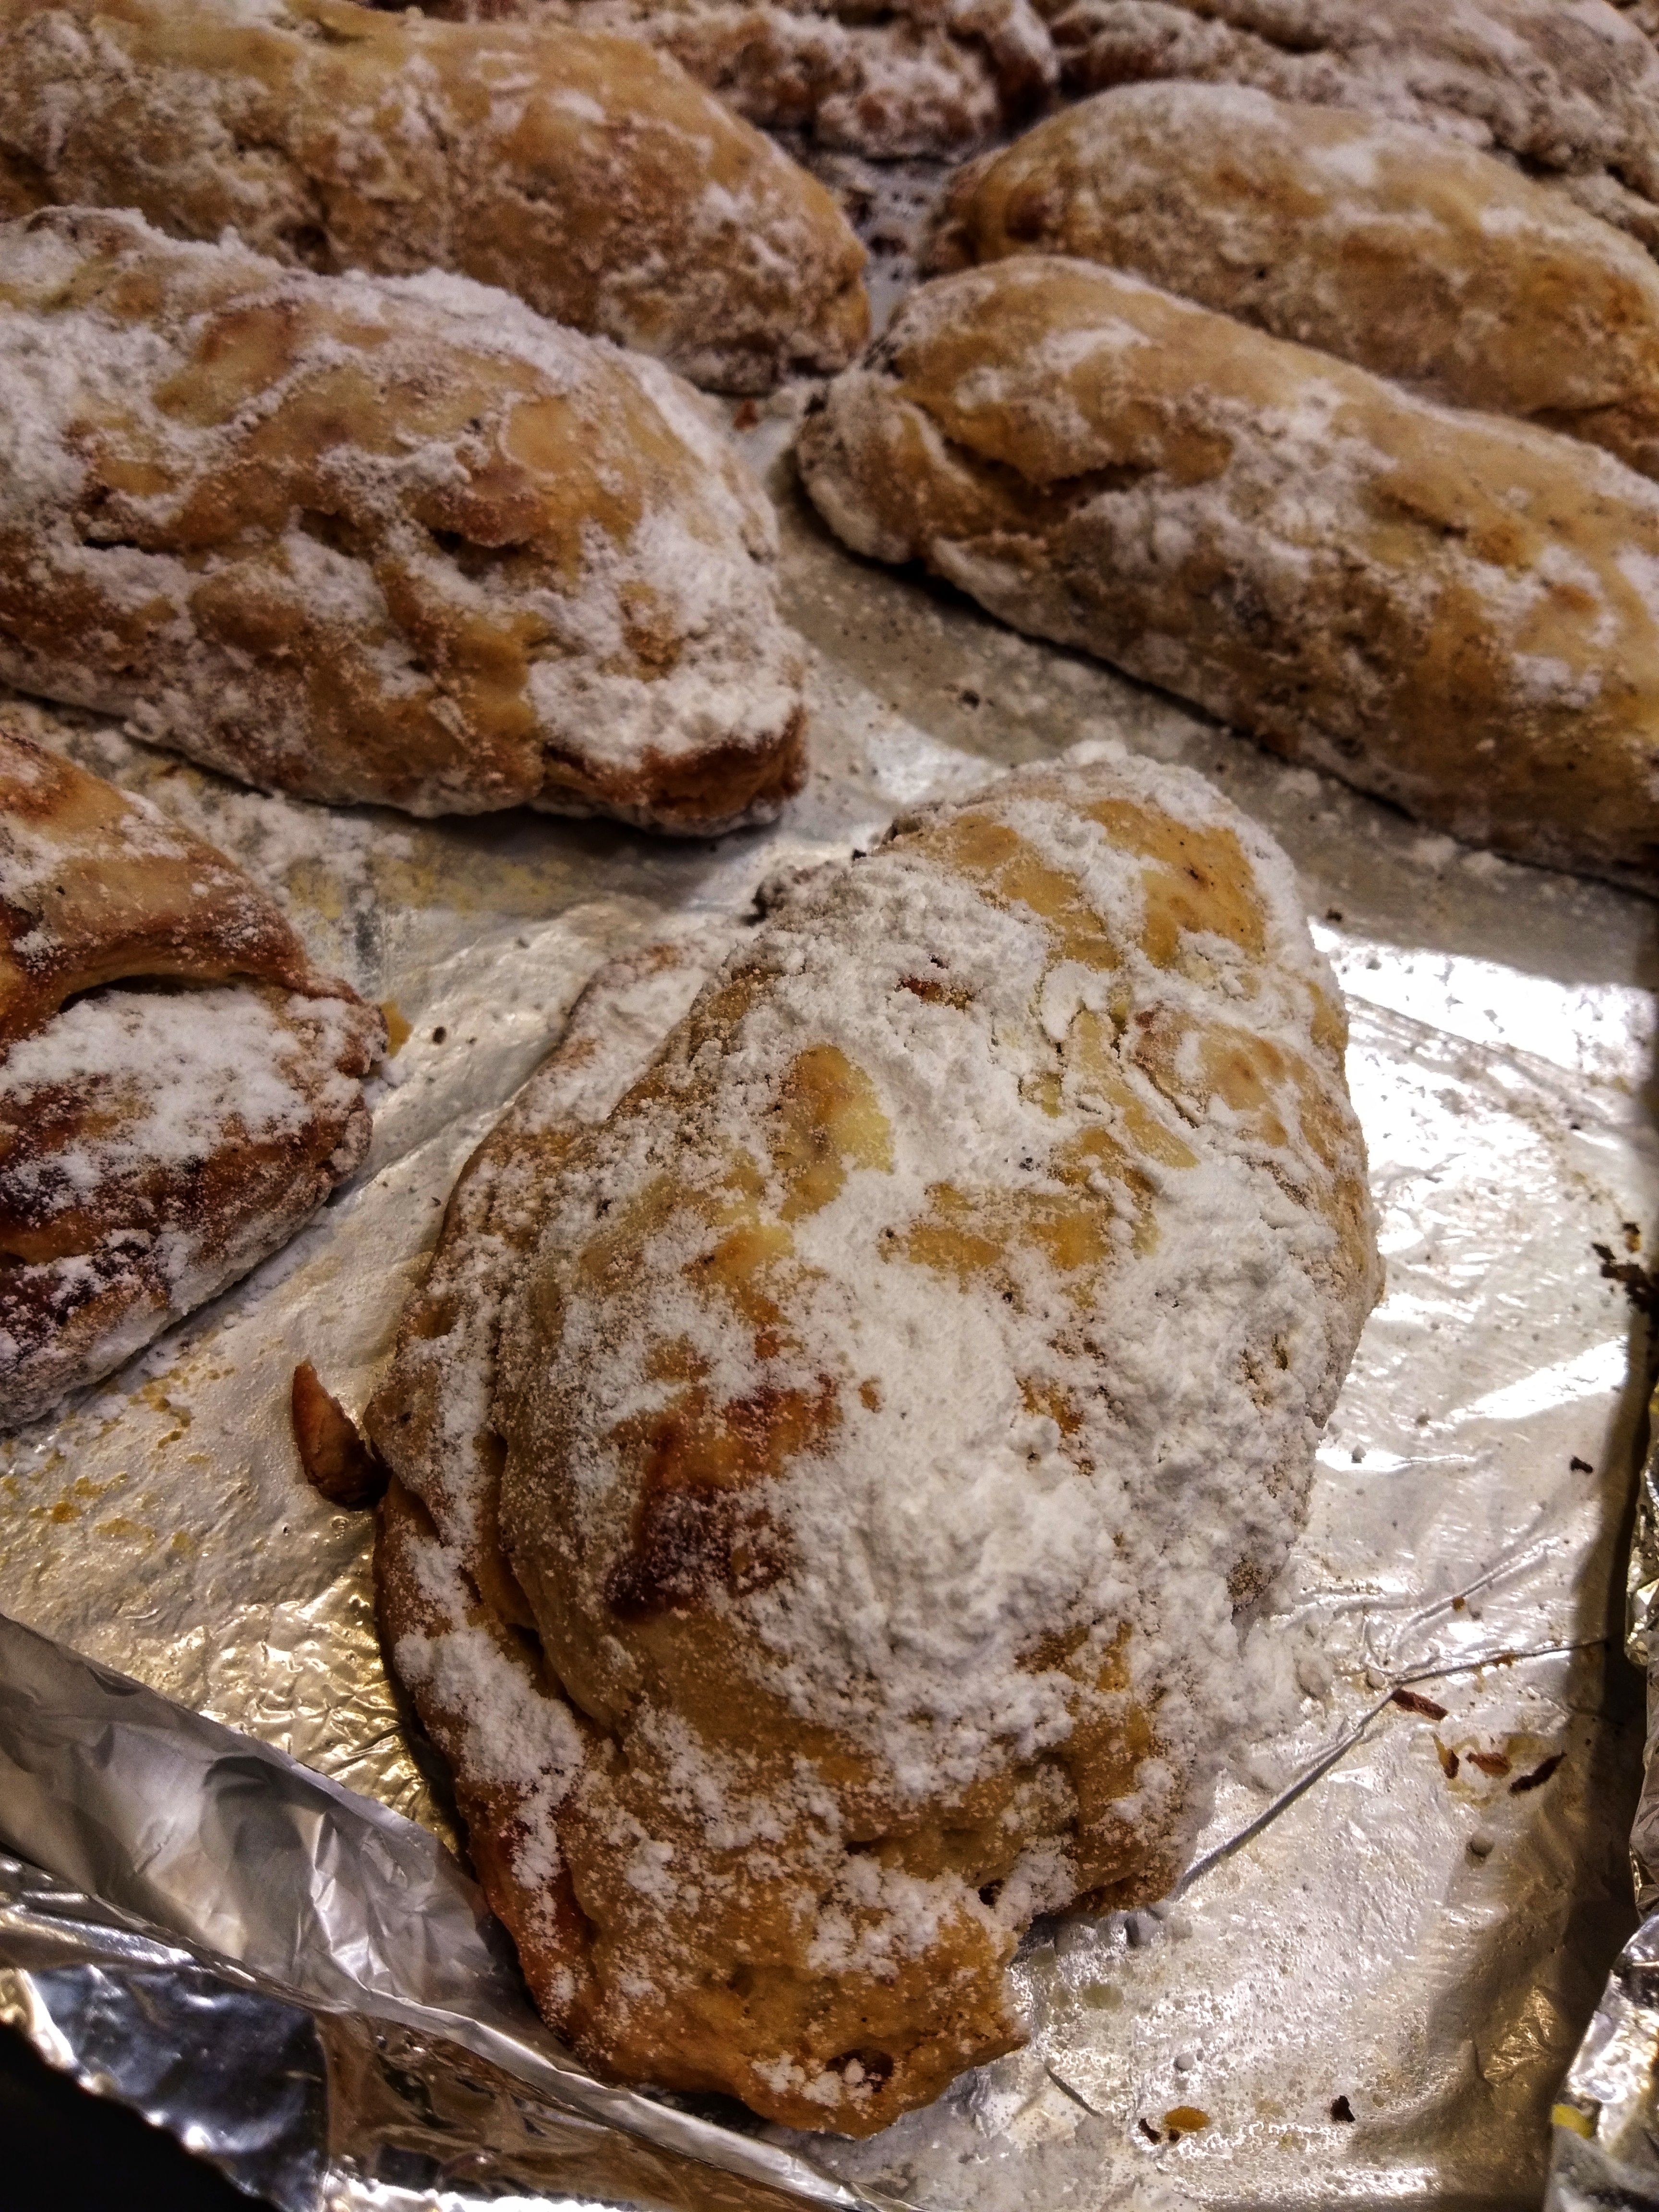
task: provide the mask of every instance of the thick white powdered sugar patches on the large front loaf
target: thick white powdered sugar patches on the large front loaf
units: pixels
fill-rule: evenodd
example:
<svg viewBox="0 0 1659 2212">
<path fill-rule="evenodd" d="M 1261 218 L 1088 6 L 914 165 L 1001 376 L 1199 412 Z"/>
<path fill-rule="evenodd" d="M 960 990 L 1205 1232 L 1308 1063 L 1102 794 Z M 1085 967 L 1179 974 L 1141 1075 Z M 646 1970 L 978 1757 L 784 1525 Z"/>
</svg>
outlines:
<svg viewBox="0 0 1659 2212">
<path fill-rule="evenodd" d="M 1117 763 L 1104 787 L 1172 801 L 1183 821 L 1237 827 L 1194 779 L 1172 783 Z M 1020 799 L 1013 785 L 998 818 L 1075 876 L 1117 942 L 1135 942 L 1139 876 L 1097 827 L 1048 796 Z M 1201 938 L 1203 982 L 1137 951 L 1113 980 L 1148 1013 L 1175 1018 L 1179 1009 L 1194 1024 L 1248 1006 L 1254 1035 L 1303 1053 L 1310 991 L 1329 984 L 1307 949 L 1287 869 L 1265 858 L 1261 838 L 1252 847 L 1256 880 L 1272 896 L 1267 962 L 1254 967 L 1228 940 Z M 730 1307 L 699 1292 L 708 1232 L 695 1212 L 681 1212 L 653 1245 L 648 1296 L 637 1305 L 595 1310 L 571 1298 L 557 1347 L 520 1329 L 526 1378 L 549 1360 L 584 1378 L 571 1460 L 577 1515 L 611 1555 L 617 1484 L 628 1489 L 628 1475 L 606 1438 L 672 1394 L 648 1380 L 650 1345 L 686 1345 L 717 1402 L 763 1387 L 810 1394 L 834 1378 L 838 1425 L 827 1458 L 803 1455 L 768 1489 L 801 1568 L 743 1599 L 768 1655 L 768 1686 L 803 1721 L 867 1750 L 900 1794 L 922 1798 L 1071 1732 L 1066 1677 L 1020 1666 L 1044 1632 L 1084 1626 L 1110 1641 L 1135 1619 L 1133 1672 L 1148 1699 L 1161 1694 L 1168 1756 L 1201 1765 L 1206 1741 L 1232 1717 L 1228 1573 L 1248 1548 L 1241 1517 L 1254 1517 L 1267 1553 L 1283 1555 L 1314 1429 L 1347 1356 L 1332 1340 L 1318 1287 L 1329 1223 L 1287 1197 L 1225 1110 L 1214 1113 L 1186 1133 L 1197 1161 L 1159 1177 L 1155 1252 L 1135 1250 L 1133 1210 L 1119 1208 L 1113 1263 L 1091 1281 L 1091 1358 L 1073 1371 L 1057 1347 L 1079 1327 L 1075 1285 L 1035 1245 L 1013 1261 L 1015 1303 L 991 1283 L 964 1292 L 947 1272 L 883 1252 L 927 1217 L 940 1186 L 1060 1190 L 1044 1161 L 1086 1126 L 1088 1108 L 1051 1119 L 1022 1095 L 1053 1055 L 1033 1006 L 1064 1029 L 1077 1006 L 1104 995 L 1104 975 L 1062 969 L 1044 982 L 1053 956 L 1033 914 L 991 902 L 902 843 L 838 878 L 823 900 L 785 907 L 765 949 L 739 958 L 761 964 L 765 991 L 726 1060 L 714 1119 L 677 1121 L 684 1108 L 666 1104 L 624 1119 L 615 1135 L 606 1128 L 593 1166 L 560 1192 L 540 1267 L 557 1272 L 562 1254 L 593 1234 L 595 1206 L 608 1210 L 659 1170 L 670 1126 L 686 1148 L 675 1175 L 692 1186 L 717 1177 L 734 1152 L 765 1157 L 768 1108 L 805 1044 L 836 1046 L 865 1071 L 891 1128 L 891 1164 L 852 1170 L 830 1206 L 794 1221 L 801 1272 L 790 1354 L 757 1365 Z M 905 989 L 907 978 L 929 973 L 949 973 L 969 1018 Z M 1152 1095 L 1148 1086 L 1148 1104 Z M 1290 1159 L 1281 1177 L 1287 1168 Z M 1287 1347 L 1267 1418 L 1241 1367 L 1254 1332 Z M 1077 1383 L 1086 1374 L 1095 1402 L 1113 1409 L 1088 1429 L 1088 1482 L 1079 1484 L 1057 1422 L 1022 1402 L 1020 1378 L 1044 1374 Z M 1276 1480 L 1285 1460 L 1301 1462 L 1294 1482 Z M 515 1542 L 533 1546 L 533 1484 L 518 1498 Z"/>
</svg>

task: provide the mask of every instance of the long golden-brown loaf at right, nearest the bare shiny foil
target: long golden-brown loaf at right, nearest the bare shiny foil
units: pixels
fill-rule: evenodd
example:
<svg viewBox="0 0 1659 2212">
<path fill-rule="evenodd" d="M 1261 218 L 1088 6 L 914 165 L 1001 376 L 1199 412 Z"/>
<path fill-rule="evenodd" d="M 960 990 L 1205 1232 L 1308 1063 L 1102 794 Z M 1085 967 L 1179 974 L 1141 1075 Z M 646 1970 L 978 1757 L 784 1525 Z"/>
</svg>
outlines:
<svg viewBox="0 0 1659 2212">
<path fill-rule="evenodd" d="M 1659 489 L 1084 261 L 914 292 L 799 442 L 922 560 L 1475 845 L 1659 883 Z"/>
</svg>

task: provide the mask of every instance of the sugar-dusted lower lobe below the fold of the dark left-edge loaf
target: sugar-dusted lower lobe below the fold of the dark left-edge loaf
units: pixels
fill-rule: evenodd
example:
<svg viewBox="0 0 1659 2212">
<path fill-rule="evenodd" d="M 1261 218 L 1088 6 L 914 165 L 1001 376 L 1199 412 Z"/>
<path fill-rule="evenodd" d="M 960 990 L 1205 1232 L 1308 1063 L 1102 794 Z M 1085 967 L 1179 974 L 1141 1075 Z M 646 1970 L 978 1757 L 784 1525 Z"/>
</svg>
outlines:
<svg viewBox="0 0 1659 2212">
<path fill-rule="evenodd" d="M 343 987 L 341 987 L 343 989 Z M 93 993 L 0 1064 L 0 1422 L 288 1243 L 369 1146 L 380 1018 L 272 984 Z"/>
</svg>

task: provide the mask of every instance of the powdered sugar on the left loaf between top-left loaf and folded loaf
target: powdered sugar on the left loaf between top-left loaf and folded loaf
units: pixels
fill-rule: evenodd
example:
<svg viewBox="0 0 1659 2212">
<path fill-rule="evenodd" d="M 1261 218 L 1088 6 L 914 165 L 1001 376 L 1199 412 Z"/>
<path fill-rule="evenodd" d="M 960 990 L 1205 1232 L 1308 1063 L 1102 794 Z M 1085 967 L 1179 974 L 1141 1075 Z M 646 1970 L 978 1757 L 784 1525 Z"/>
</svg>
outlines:
<svg viewBox="0 0 1659 2212">
<path fill-rule="evenodd" d="M 69 285 L 95 254 L 150 272 L 164 294 L 157 314 L 126 321 L 97 301 L 71 303 Z M 7 226 L 0 272 L 11 292 L 0 314 L 9 394 L 0 520 L 29 533 L 55 593 L 84 593 L 111 619 L 144 608 L 146 626 L 146 653 L 133 666 L 113 639 L 93 637 L 86 650 L 80 633 L 64 633 L 53 646 L 42 624 L 27 633 L 0 624 L 0 677 L 20 690 L 131 714 L 144 737 L 250 781 L 392 799 L 416 814 L 524 801 L 584 812 L 560 774 L 568 759 L 602 794 L 617 794 L 622 812 L 653 818 L 664 765 L 726 745 L 768 759 L 794 743 L 801 653 L 776 613 L 772 511 L 697 398 L 657 363 L 560 330 L 462 276 L 323 281 L 234 246 L 161 241 L 135 217 Z M 294 345 L 230 420 L 188 420 L 157 394 L 188 369 L 212 314 L 232 301 L 285 316 Z M 498 398 L 482 398 L 484 411 L 453 434 L 407 434 L 376 451 L 347 442 L 319 458 L 323 495 L 369 542 L 347 553 L 290 520 L 261 588 L 307 635 L 327 639 L 376 695 L 376 712 L 418 710 L 409 759 L 343 757 L 338 739 L 314 730 L 321 708 L 290 664 L 226 644 L 199 613 L 201 593 L 234 573 L 248 546 L 212 544 L 190 562 L 175 546 L 188 538 L 186 515 L 204 484 L 234 471 L 259 425 L 303 403 L 319 378 L 345 369 L 418 387 L 438 372 L 465 380 L 469 361 L 531 372 L 531 394 L 568 400 L 586 422 L 604 422 L 630 398 L 666 440 L 666 465 L 637 471 L 613 460 L 622 478 L 606 480 L 606 498 L 624 509 L 635 498 L 637 520 L 624 535 L 586 524 L 575 573 L 562 573 L 535 546 L 515 549 L 509 562 L 462 564 L 414 515 L 434 487 L 465 487 L 491 462 L 509 420 Z M 164 489 L 102 484 L 86 462 L 88 418 L 144 451 Z M 602 434 L 595 442 L 604 445 Z M 77 500 L 95 502 L 95 529 L 77 522 Z M 420 626 L 407 628 L 392 611 L 383 573 L 400 573 L 405 595 L 420 595 Z M 498 628 L 504 650 L 515 650 L 509 641 L 524 626 L 549 633 L 526 661 L 531 732 L 511 701 L 500 730 L 489 721 L 473 730 L 469 717 L 489 712 L 489 695 L 476 703 L 476 692 L 442 675 L 442 657 L 422 641 L 434 619 L 453 630 Z M 641 657 L 630 648 L 639 624 Z M 757 807 L 776 803 L 768 796 Z M 745 807 L 730 812 L 741 818 Z M 719 825 L 717 799 L 695 825 Z"/>
</svg>

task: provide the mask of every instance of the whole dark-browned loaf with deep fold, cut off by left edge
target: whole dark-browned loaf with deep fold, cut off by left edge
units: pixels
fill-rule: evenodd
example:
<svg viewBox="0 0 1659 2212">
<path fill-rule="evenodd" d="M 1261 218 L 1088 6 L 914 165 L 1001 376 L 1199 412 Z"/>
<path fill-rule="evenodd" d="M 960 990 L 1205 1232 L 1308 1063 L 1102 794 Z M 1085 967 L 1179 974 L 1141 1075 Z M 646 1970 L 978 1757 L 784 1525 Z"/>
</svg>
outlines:
<svg viewBox="0 0 1659 2212">
<path fill-rule="evenodd" d="M 0 714 L 0 1425 L 274 1252 L 369 1148 L 385 1024 L 223 854 Z"/>
</svg>

